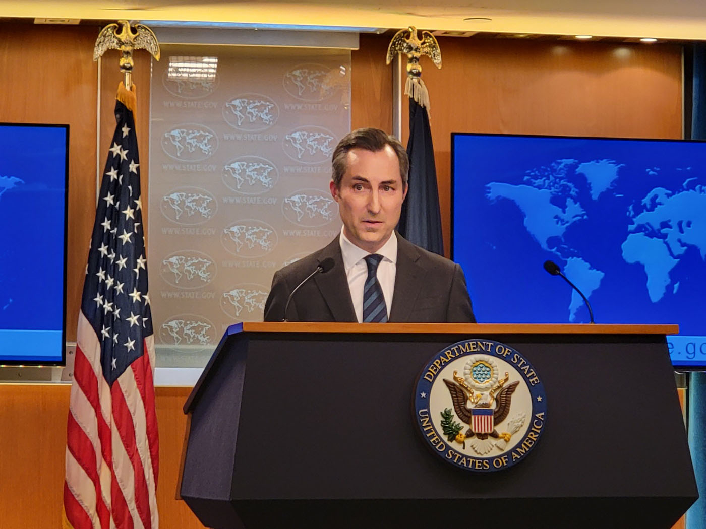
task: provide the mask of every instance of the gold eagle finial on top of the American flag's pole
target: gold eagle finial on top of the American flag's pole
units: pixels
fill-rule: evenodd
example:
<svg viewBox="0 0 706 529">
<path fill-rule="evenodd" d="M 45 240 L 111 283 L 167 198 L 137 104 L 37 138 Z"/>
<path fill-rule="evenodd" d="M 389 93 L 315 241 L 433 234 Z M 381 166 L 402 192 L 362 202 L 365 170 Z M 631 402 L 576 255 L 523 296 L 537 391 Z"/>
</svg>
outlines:
<svg viewBox="0 0 706 529">
<path fill-rule="evenodd" d="M 128 20 L 118 20 L 118 23 L 108 24 L 100 30 L 93 48 L 93 60 L 97 61 L 108 49 L 119 49 L 121 52 L 120 71 L 125 73 L 125 87 L 128 90 L 135 65 L 133 50 L 146 49 L 157 61 L 160 60 L 160 43 L 155 33 L 144 24 L 131 26 Z"/>
</svg>

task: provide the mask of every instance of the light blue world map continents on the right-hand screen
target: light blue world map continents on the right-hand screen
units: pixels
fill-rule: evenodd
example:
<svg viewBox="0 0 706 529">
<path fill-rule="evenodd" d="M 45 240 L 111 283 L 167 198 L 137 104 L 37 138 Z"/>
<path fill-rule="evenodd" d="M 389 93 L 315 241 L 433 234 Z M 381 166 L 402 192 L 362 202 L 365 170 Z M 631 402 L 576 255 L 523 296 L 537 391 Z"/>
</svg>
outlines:
<svg viewBox="0 0 706 529">
<path fill-rule="evenodd" d="M 608 253 L 592 253 L 573 228 L 581 225 L 592 227 L 592 233 L 606 233 L 605 226 L 622 226 L 625 235 L 619 258 L 639 265 L 644 272 L 626 276 L 625 281 L 644 281 L 642 288 L 652 303 L 658 303 L 667 293 L 678 293 L 686 277 L 680 276 L 677 265 L 689 250 L 698 251 L 701 260 L 706 260 L 706 175 L 695 174 L 690 167 L 642 167 L 635 175 L 636 163 L 591 157 L 556 159 L 526 169 L 520 184 L 489 182 L 486 197 L 491 203 L 513 202 L 524 219 L 518 229 L 526 230 L 543 250 L 566 263 L 563 272 L 587 298 L 600 291 L 606 274 L 619 265 L 609 260 Z M 631 177 L 623 176 L 628 164 Z M 635 176 L 647 192 L 641 200 L 626 204 L 625 195 L 616 189 L 621 183 L 634 185 Z M 657 185 L 666 181 L 681 181 L 681 185 Z M 581 306 L 582 299 L 573 292 L 570 322 L 576 320 Z"/>
</svg>

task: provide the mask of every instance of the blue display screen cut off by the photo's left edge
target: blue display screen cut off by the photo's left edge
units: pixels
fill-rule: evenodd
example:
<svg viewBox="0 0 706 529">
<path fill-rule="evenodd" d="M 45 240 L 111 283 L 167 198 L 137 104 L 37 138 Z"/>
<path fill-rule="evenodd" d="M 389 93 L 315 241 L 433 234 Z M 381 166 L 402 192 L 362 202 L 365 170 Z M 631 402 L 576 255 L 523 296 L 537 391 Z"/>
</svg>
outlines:
<svg viewBox="0 0 706 529">
<path fill-rule="evenodd" d="M 68 126 L 0 123 L 0 363 L 64 361 Z"/>
</svg>

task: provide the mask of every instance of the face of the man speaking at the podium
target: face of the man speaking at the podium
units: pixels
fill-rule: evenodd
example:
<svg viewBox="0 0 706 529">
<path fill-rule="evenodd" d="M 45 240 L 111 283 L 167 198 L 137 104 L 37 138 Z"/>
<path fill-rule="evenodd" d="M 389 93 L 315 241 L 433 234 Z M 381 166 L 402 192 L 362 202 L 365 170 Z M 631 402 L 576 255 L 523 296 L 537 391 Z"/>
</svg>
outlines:
<svg viewBox="0 0 706 529">
<path fill-rule="evenodd" d="M 400 162 L 389 145 L 378 152 L 352 149 L 346 161 L 340 187 L 330 183 L 343 232 L 354 245 L 376 253 L 397 226 L 407 195 L 407 190 L 402 189 Z"/>
</svg>

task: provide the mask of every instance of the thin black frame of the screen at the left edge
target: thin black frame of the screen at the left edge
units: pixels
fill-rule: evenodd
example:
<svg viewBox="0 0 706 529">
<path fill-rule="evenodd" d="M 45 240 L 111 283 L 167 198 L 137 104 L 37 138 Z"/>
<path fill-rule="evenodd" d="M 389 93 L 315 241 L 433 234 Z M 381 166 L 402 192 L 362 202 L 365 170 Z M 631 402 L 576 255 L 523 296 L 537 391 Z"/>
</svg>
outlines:
<svg viewBox="0 0 706 529">
<path fill-rule="evenodd" d="M 4 366 L 47 366 L 47 367 L 64 367 L 66 366 L 66 276 L 67 276 L 67 265 L 68 265 L 68 160 L 69 160 L 69 134 L 70 126 L 68 123 L 12 123 L 6 121 L 0 121 L 0 127 L 11 126 L 11 127 L 35 127 L 35 128 L 62 128 L 65 131 L 65 142 L 64 142 L 64 274 L 63 274 L 63 285 L 62 300 L 61 300 L 61 351 L 59 358 L 52 360 L 16 360 L 16 359 L 5 359 L 2 358 L 2 353 L 0 353 L 0 367 Z"/>
</svg>

